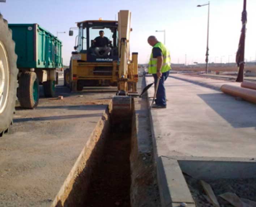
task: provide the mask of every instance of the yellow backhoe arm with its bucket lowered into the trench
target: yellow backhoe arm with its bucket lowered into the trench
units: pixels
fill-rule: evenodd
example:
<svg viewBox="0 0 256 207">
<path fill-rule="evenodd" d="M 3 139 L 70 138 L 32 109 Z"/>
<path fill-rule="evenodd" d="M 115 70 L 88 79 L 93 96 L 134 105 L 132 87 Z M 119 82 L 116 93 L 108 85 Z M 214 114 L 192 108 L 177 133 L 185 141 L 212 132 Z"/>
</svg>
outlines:
<svg viewBox="0 0 256 207">
<path fill-rule="evenodd" d="M 131 12 L 129 10 L 120 10 L 118 13 L 118 91 L 112 99 L 112 114 L 115 118 L 120 117 L 122 119 L 132 111 L 132 97 L 130 94 L 137 93 L 138 54 L 133 53 L 132 59 L 130 59 L 130 32 Z"/>
</svg>

